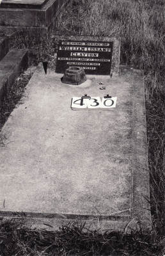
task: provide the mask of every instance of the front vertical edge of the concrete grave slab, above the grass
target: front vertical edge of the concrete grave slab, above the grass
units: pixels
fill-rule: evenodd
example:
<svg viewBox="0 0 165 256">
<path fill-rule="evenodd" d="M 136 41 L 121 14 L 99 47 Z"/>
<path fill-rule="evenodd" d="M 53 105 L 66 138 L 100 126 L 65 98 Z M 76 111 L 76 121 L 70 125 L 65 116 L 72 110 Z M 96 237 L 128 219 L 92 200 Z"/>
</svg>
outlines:
<svg viewBox="0 0 165 256">
<path fill-rule="evenodd" d="M 140 230 L 145 230 L 150 232 L 151 230 L 151 221 L 148 221 L 146 218 L 139 219 L 134 218 L 130 220 L 129 218 L 118 218 L 117 216 L 108 217 L 108 216 L 63 216 L 57 215 L 52 216 L 51 214 L 27 214 L 24 212 L 0 212 L 0 217 L 3 220 L 18 220 L 24 221 L 24 226 L 28 228 L 36 228 L 37 230 L 54 231 L 59 230 L 59 228 L 65 227 L 67 225 L 79 225 L 83 227 L 83 231 L 88 230 L 94 231 L 97 230 L 98 233 L 104 233 L 108 231 L 123 231 L 127 234 L 131 232 Z"/>
</svg>

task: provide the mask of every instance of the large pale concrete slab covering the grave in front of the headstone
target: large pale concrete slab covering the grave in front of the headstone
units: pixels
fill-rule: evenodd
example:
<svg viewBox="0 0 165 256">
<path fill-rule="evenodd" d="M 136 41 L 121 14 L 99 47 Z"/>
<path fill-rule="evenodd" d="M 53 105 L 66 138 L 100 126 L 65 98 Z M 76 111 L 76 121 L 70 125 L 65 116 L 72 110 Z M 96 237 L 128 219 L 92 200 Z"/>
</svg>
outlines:
<svg viewBox="0 0 165 256">
<path fill-rule="evenodd" d="M 118 77 L 87 75 L 78 86 L 61 77 L 39 65 L 1 131 L 1 215 L 150 228 L 143 74 L 120 67 Z M 116 108 L 72 110 L 84 93 L 109 93 Z"/>
</svg>

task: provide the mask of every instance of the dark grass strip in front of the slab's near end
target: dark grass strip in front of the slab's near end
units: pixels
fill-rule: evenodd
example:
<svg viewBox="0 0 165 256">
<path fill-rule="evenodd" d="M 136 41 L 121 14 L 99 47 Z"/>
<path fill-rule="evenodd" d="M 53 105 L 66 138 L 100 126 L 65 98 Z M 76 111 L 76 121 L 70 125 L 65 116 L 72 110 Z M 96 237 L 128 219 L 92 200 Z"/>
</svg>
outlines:
<svg viewBox="0 0 165 256">
<path fill-rule="evenodd" d="M 104 232 L 86 230 L 85 223 L 77 221 L 59 228 L 59 231 L 31 230 L 24 226 L 25 220 L 6 221 L 1 224 L 1 255 L 17 256 L 161 256 L 164 242 L 154 233 L 132 231 Z"/>
</svg>

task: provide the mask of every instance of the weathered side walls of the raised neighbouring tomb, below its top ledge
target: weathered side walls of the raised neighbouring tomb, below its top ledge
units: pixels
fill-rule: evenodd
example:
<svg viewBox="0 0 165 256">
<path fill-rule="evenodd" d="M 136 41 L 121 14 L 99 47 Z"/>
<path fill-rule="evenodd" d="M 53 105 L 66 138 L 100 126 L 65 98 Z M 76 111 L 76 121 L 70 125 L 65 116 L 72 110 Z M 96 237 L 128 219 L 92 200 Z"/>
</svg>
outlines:
<svg viewBox="0 0 165 256">
<path fill-rule="evenodd" d="M 42 33 L 51 32 L 56 26 L 59 13 L 70 0 L 49 0 L 42 8 L 0 8 L 0 31 L 11 33 L 21 29 Z M 1 7 L 1 5 L 0 5 Z"/>
</svg>

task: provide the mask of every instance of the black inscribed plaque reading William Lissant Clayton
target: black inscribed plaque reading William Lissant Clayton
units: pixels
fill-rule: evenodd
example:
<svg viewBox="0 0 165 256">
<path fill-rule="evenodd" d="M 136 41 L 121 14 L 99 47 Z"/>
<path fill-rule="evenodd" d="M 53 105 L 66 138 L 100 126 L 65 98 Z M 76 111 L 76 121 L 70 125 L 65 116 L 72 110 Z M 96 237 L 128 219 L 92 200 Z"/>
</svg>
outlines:
<svg viewBox="0 0 165 256">
<path fill-rule="evenodd" d="M 70 66 L 83 67 L 86 74 L 109 75 L 113 42 L 59 41 L 56 72 Z"/>
</svg>

